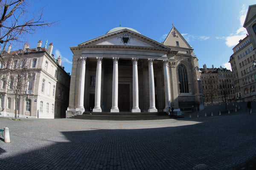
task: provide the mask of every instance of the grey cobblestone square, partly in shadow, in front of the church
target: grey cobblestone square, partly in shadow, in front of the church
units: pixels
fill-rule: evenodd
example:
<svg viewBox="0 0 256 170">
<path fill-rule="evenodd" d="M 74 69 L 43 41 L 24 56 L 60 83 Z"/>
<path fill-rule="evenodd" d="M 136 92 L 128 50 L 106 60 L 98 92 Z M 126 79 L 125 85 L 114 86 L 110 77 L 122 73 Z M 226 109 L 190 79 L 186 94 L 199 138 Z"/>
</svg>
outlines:
<svg viewBox="0 0 256 170">
<path fill-rule="evenodd" d="M 253 158 L 256 109 L 252 115 L 245 108 L 221 116 L 211 111 L 147 121 L 0 117 L 0 129 L 9 127 L 11 139 L 0 141 L 0 169 L 192 170 L 207 164 L 230 170 Z"/>
</svg>

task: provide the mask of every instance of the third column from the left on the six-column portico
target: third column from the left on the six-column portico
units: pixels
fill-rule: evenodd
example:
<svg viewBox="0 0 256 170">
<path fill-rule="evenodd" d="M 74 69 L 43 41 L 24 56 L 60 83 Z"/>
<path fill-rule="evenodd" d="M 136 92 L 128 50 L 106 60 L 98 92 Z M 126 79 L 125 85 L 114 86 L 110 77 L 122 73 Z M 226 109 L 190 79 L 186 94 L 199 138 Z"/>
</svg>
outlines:
<svg viewBox="0 0 256 170">
<path fill-rule="evenodd" d="M 112 108 L 110 112 L 119 112 L 118 108 L 118 59 L 113 57 Z"/>
</svg>

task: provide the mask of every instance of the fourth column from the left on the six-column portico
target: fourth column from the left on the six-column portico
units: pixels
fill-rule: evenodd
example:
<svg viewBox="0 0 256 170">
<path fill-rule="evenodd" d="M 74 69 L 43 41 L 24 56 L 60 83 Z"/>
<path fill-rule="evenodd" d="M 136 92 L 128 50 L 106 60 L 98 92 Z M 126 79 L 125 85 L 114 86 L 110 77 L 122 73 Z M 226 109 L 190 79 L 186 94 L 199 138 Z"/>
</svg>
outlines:
<svg viewBox="0 0 256 170">
<path fill-rule="evenodd" d="M 132 77 L 132 94 L 133 94 L 133 107 L 131 112 L 140 112 L 139 108 L 139 82 L 138 82 L 138 66 L 137 58 L 132 59 L 133 63 L 133 77 Z"/>
</svg>

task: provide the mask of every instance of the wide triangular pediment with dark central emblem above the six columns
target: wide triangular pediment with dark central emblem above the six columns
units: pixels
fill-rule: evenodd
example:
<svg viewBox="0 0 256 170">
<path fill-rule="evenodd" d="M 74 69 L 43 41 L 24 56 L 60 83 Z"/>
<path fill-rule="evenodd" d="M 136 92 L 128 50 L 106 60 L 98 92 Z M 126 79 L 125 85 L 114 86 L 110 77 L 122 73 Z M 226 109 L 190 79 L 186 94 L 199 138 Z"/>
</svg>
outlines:
<svg viewBox="0 0 256 170">
<path fill-rule="evenodd" d="M 110 34 L 96 37 L 92 40 L 83 42 L 80 45 L 123 45 L 123 46 L 139 46 L 148 48 L 170 49 L 165 45 L 152 40 L 142 34 L 138 34 L 128 29 L 123 29 Z"/>
</svg>

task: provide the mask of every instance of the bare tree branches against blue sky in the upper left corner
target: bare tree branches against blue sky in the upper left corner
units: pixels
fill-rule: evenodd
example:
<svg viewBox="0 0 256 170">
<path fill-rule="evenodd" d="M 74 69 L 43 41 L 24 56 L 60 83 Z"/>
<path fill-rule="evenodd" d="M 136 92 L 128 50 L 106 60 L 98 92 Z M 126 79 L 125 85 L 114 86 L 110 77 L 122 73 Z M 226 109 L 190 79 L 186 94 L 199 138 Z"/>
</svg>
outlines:
<svg viewBox="0 0 256 170">
<path fill-rule="evenodd" d="M 0 0 L 0 44 L 1 55 L 12 42 L 22 42 L 22 36 L 35 33 L 37 28 L 51 26 L 55 22 L 43 19 L 40 11 L 29 11 L 28 0 Z M 1 57 L 1 56 L 0 56 Z"/>
</svg>

